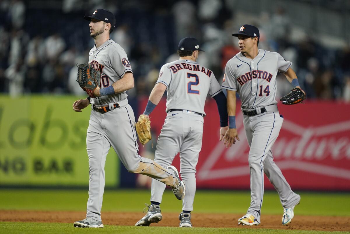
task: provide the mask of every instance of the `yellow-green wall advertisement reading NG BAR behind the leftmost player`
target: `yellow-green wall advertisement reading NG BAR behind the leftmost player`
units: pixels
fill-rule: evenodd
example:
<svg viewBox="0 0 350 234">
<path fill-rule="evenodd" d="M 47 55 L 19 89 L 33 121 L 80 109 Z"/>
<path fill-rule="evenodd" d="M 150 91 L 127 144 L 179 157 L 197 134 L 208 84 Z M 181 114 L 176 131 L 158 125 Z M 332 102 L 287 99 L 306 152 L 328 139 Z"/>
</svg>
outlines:
<svg viewBox="0 0 350 234">
<path fill-rule="evenodd" d="M 90 105 L 74 112 L 75 96 L 0 96 L 0 185 L 86 186 L 86 130 Z M 119 185 L 111 148 L 106 186 Z"/>
</svg>

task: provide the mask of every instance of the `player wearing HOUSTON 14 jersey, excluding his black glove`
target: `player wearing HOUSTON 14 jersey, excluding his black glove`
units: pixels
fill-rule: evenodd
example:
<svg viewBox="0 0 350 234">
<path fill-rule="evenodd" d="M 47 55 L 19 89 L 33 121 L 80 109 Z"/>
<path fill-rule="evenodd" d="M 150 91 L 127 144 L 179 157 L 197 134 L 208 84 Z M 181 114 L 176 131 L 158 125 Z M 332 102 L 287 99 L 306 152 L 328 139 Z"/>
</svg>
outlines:
<svg viewBox="0 0 350 234">
<path fill-rule="evenodd" d="M 240 53 L 226 64 L 222 88 L 227 90 L 229 130 L 224 137 L 226 147 L 239 140 L 236 116 L 236 92 L 241 99 L 243 124 L 250 146 L 248 162 L 250 167 L 251 204 L 247 214 L 238 219 L 238 224 L 259 225 L 262 198 L 264 196 L 264 173 L 276 188 L 284 213 L 282 224 L 288 224 L 294 217 L 294 207 L 299 204 L 300 195 L 294 193 L 282 172 L 273 161 L 271 147 L 278 137 L 283 117 L 277 109 L 276 75 L 286 75 L 294 87 L 300 88 L 296 74 L 290 68 L 291 62 L 280 54 L 258 49 L 259 30 L 252 25 L 243 25 L 238 33 Z"/>
</svg>

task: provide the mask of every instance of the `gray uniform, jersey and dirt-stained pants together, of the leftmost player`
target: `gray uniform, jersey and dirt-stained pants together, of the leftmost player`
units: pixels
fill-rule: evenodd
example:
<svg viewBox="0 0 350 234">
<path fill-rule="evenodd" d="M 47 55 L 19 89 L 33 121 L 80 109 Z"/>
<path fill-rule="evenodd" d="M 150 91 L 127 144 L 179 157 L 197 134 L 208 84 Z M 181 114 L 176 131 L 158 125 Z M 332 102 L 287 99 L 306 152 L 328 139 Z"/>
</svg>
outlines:
<svg viewBox="0 0 350 234">
<path fill-rule="evenodd" d="M 112 40 L 90 51 L 89 63 L 101 71 L 101 88 L 108 87 L 132 71 L 123 48 Z M 86 217 L 101 220 L 102 196 L 105 186 L 104 165 L 111 146 L 129 172 L 148 175 L 165 183 L 174 184 L 174 174 L 156 164 L 153 160 L 138 154 L 136 142 L 135 117 L 128 104 L 126 92 L 91 98 L 93 105 L 118 103 L 119 107 L 109 105 L 111 111 L 100 113 L 91 110 L 89 128 L 86 136 L 86 149 L 89 156 L 89 199 Z"/>
</svg>

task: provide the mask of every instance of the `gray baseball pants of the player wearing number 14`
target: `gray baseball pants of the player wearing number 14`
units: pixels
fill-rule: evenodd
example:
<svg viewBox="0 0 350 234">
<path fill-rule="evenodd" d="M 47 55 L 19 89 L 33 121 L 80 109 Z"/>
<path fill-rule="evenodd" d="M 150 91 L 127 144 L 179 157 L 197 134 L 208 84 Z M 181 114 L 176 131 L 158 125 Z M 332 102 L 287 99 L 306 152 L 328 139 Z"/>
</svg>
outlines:
<svg viewBox="0 0 350 234">
<path fill-rule="evenodd" d="M 264 173 L 277 190 L 283 208 L 290 208 L 300 201 L 280 168 L 272 157 L 271 147 L 282 127 L 283 117 L 278 111 L 255 116 L 243 116 L 243 124 L 250 146 L 248 162 L 250 167 L 251 204 L 247 211 L 260 223 L 262 199 L 264 197 Z"/>
</svg>

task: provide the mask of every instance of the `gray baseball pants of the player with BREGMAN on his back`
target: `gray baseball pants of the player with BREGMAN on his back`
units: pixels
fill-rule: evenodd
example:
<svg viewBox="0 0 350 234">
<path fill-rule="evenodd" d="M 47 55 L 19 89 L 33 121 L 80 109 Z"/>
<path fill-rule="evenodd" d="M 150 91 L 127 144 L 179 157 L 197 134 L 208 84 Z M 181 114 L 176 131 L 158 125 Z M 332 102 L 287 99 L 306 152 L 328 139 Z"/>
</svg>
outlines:
<svg viewBox="0 0 350 234">
<path fill-rule="evenodd" d="M 188 111 L 168 112 L 158 138 L 154 161 L 163 167 L 172 164 L 180 152 L 180 174 L 186 185 L 184 211 L 193 211 L 196 193 L 196 165 L 202 148 L 203 116 Z M 151 201 L 162 202 L 165 185 L 152 179 Z"/>
</svg>

